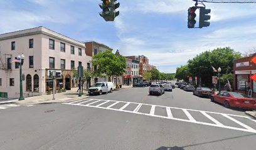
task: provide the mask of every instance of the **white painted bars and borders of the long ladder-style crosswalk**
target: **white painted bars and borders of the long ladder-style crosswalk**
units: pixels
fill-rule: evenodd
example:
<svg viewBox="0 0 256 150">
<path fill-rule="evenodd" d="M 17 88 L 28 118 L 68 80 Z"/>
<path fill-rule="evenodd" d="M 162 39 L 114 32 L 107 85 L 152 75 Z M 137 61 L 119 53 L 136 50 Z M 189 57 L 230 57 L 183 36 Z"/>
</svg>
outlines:
<svg viewBox="0 0 256 150">
<path fill-rule="evenodd" d="M 92 99 L 84 99 L 84 101 L 89 101 L 89 100 L 92 100 Z M 93 99 L 93 100 L 96 100 L 97 102 L 104 101 L 104 103 L 112 101 L 112 100 L 105 100 L 105 99 Z M 215 126 L 215 127 L 218 127 L 218 128 L 226 128 L 226 129 L 233 129 L 233 130 L 237 130 L 237 131 L 245 131 L 245 132 L 249 132 L 249 133 L 256 133 L 256 129 L 253 129 L 250 126 L 247 126 L 245 123 L 241 123 L 240 121 L 237 121 L 236 119 L 231 117 L 231 116 L 236 116 L 236 117 L 240 117 L 240 118 L 246 118 L 246 119 L 248 119 L 248 121 L 255 121 L 255 120 L 253 120 L 253 119 L 251 119 L 247 116 L 239 116 L 239 115 L 235 115 L 235 114 L 223 114 L 223 113 L 216 113 L 216 112 L 210 112 L 210 111 L 200 111 L 200 110 L 195 110 L 195 109 L 185 109 L 185 108 L 174 108 L 174 107 L 167 107 L 167 106 L 159 106 L 159 107 L 166 108 L 166 113 L 168 114 L 168 116 L 166 117 L 166 116 L 159 116 L 159 115 L 154 114 L 155 108 L 158 105 L 132 103 L 132 102 L 125 102 L 125 101 L 113 101 L 113 102 L 115 102 L 115 103 L 111 104 L 107 108 L 100 107 L 103 103 L 101 103 L 97 106 L 90 106 L 90 105 L 87 105 L 87 104 L 79 104 L 79 103 L 75 104 L 76 102 L 62 103 L 62 104 L 85 106 L 85 107 L 90 107 L 90 108 L 100 108 L 100 109 L 121 111 L 121 112 L 126 112 L 126 113 L 133 113 L 133 114 L 142 114 L 142 115 L 152 116 L 152 117 L 156 117 L 156 118 L 172 119 L 172 120 L 176 120 L 176 121 L 184 121 L 184 122 L 187 122 L 187 123 L 203 124 L 203 125 L 207 125 L 207 126 Z M 123 108 L 125 108 L 126 106 L 125 107 L 123 106 L 120 109 L 111 108 L 112 106 L 114 106 L 115 104 L 120 103 L 120 102 L 125 103 L 125 105 L 127 105 L 127 106 L 129 104 L 138 104 L 138 106 L 136 107 L 136 109 L 134 109 L 134 111 L 124 110 Z M 139 109 L 141 108 L 142 105 L 151 106 L 151 111 L 149 113 L 140 113 Z M 171 109 L 181 109 L 181 110 L 183 110 L 184 114 L 186 114 L 186 116 L 188 116 L 188 119 L 173 118 L 173 114 L 171 113 Z M 201 121 L 196 121 L 195 118 L 193 118 L 193 116 L 188 111 L 198 111 L 198 112 L 202 113 L 206 118 L 213 121 L 213 123 L 204 123 L 204 122 L 201 122 Z M 225 125 L 221 124 L 219 121 L 217 121 L 215 118 L 211 117 L 209 114 L 220 114 L 222 116 L 225 116 L 227 119 L 232 120 L 234 124 L 239 124 L 241 126 L 241 128 L 237 128 L 237 127 L 233 127 L 233 126 L 225 126 Z"/>
</svg>

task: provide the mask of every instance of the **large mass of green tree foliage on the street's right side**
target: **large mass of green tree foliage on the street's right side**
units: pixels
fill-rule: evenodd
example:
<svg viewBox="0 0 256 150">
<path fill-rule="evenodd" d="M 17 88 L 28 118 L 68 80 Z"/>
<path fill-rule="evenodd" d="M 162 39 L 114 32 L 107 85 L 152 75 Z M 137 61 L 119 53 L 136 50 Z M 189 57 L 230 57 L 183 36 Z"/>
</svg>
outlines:
<svg viewBox="0 0 256 150">
<path fill-rule="evenodd" d="M 217 48 L 213 51 L 205 51 L 195 58 L 188 60 L 188 65 L 176 69 L 176 78 L 188 80 L 188 76 L 201 77 L 202 84 L 212 86 L 212 76 L 217 76 L 215 69 L 221 68 L 221 74 L 233 74 L 233 60 L 242 58 L 241 53 L 235 52 L 230 47 Z M 186 70 L 186 72 L 185 72 Z M 232 82 L 232 81 L 230 81 Z"/>
</svg>

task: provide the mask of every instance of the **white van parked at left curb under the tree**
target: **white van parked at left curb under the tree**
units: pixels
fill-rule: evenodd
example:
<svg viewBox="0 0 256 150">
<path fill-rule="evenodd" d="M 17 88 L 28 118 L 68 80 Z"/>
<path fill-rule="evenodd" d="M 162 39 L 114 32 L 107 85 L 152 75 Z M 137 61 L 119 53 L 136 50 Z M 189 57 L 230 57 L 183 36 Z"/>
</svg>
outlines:
<svg viewBox="0 0 256 150">
<path fill-rule="evenodd" d="M 110 93 L 114 90 L 114 84 L 111 82 L 102 82 L 95 83 L 92 87 L 88 89 L 88 94 L 102 94 L 102 93 Z"/>
</svg>

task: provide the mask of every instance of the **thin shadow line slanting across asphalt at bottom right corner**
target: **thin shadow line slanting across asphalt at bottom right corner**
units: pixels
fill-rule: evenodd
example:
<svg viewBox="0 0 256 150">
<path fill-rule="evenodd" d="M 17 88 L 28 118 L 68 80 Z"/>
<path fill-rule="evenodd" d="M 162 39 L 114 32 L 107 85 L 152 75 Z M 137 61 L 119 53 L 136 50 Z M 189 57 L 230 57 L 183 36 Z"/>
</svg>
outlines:
<svg viewBox="0 0 256 150">
<path fill-rule="evenodd" d="M 255 136 L 255 135 L 256 134 L 253 133 L 253 134 L 247 134 L 247 135 L 244 135 L 244 136 L 235 136 L 235 137 L 232 137 L 232 138 L 219 139 L 219 140 L 215 140 L 215 141 L 208 141 L 208 142 L 205 142 L 205 143 L 191 144 L 191 145 L 182 146 L 182 147 L 178 147 L 178 146 L 174 146 L 174 147 L 161 146 L 160 148 L 157 148 L 156 150 L 184 150 L 184 148 L 186 148 L 186 147 L 198 146 L 198 145 L 209 144 L 209 143 L 218 143 L 218 142 L 226 141 L 226 140 L 230 140 L 230 139 L 237 139 L 237 138 L 243 138 L 243 137 Z"/>
</svg>

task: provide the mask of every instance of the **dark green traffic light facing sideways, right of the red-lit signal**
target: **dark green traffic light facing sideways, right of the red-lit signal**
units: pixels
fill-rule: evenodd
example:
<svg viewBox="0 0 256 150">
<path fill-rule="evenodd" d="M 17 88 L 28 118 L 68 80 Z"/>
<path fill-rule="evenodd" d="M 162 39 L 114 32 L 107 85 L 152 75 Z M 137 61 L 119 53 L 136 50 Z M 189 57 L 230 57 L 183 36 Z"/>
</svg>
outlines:
<svg viewBox="0 0 256 150">
<path fill-rule="evenodd" d="M 199 27 L 208 27 L 211 19 L 211 16 L 208 15 L 211 12 L 211 9 L 205 9 L 205 7 L 200 7 L 200 16 L 199 16 Z"/>
</svg>

